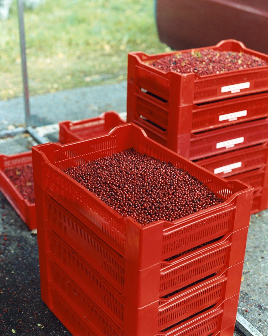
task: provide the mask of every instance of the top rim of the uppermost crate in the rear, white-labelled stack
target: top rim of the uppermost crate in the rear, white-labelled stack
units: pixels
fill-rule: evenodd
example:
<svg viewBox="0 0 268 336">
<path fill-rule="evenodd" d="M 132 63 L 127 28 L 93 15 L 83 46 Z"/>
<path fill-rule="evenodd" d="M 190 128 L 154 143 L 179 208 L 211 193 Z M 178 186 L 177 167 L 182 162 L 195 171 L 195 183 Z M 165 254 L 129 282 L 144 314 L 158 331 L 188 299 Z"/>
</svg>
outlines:
<svg viewBox="0 0 268 336">
<path fill-rule="evenodd" d="M 187 76 L 194 76 L 196 77 L 197 80 L 201 80 L 201 79 L 209 79 L 213 76 L 217 76 L 217 78 L 220 78 L 222 76 L 228 76 L 228 74 L 230 75 L 234 75 L 234 74 L 238 74 L 240 72 L 243 72 L 244 74 L 247 74 L 248 72 L 251 72 L 253 69 L 260 69 L 260 71 L 263 71 L 263 70 L 266 70 L 268 69 L 268 65 L 267 66 L 261 66 L 261 67 L 254 67 L 254 68 L 248 68 L 248 69 L 240 69 L 240 70 L 232 70 L 232 71 L 226 71 L 226 72 L 222 72 L 222 73 L 219 73 L 219 74 L 209 74 L 209 75 L 204 75 L 204 76 L 199 76 L 195 73 L 189 73 L 189 74 L 180 74 L 178 72 L 175 72 L 174 70 L 171 70 L 171 71 L 168 71 L 168 72 L 164 72 L 160 69 L 157 69 L 145 62 L 143 62 L 140 58 L 140 56 L 138 54 L 143 54 L 145 56 L 150 56 L 150 57 L 165 57 L 165 56 L 169 56 L 169 55 L 173 55 L 173 54 L 177 54 L 177 53 L 187 53 L 187 52 L 191 52 L 192 50 L 206 50 L 206 49 L 213 49 L 213 48 L 219 48 L 221 46 L 223 46 L 225 43 L 229 43 L 229 42 L 233 42 L 233 43 L 236 43 L 238 44 L 242 49 L 243 49 L 243 52 L 246 52 L 250 55 L 258 55 L 257 57 L 259 58 L 262 58 L 266 61 L 268 61 L 268 55 L 265 54 L 265 53 L 262 53 L 262 52 L 259 52 L 259 51 L 256 51 L 256 50 L 253 50 L 253 49 L 250 49 L 250 48 L 247 48 L 244 43 L 242 41 L 238 41 L 238 40 L 235 40 L 235 39 L 228 39 L 228 40 L 221 40 L 220 42 L 218 42 L 217 44 L 215 45 L 212 45 L 212 46 L 207 46 L 207 47 L 200 47 L 200 48 L 192 48 L 192 49 L 183 49 L 183 50 L 176 50 L 176 51 L 172 51 L 172 52 L 165 52 L 165 53 L 159 53 L 159 54 L 146 54 L 144 53 L 143 51 L 132 51 L 132 52 L 129 52 L 128 55 L 132 55 L 132 56 L 135 56 L 135 58 L 138 60 L 139 63 L 142 63 L 142 64 L 146 64 L 146 66 L 148 66 L 151 70 L 153 69 L 156 73 L 160 73 L 160 74 L 163 74 L 163 75 L 168 75 L 168 74 L 171 74 L 171 73 L 174 73 L 176 75 L 179 75 L 181 77 L 187 77 Z"/>
</svg>

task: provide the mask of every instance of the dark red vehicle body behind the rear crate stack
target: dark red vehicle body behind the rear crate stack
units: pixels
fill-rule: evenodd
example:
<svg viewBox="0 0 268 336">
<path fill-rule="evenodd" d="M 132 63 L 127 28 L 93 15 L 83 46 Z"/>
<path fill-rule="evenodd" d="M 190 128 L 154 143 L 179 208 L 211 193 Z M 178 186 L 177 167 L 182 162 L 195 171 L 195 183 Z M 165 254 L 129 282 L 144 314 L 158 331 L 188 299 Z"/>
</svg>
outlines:
<svg viewBox="0 0 268 336">
<path fill-rule="evenodd" d="M 156 0 L 159 38 L 176 50 L 236 39 L 268 53 L 267 0 Z"/>
</svg>

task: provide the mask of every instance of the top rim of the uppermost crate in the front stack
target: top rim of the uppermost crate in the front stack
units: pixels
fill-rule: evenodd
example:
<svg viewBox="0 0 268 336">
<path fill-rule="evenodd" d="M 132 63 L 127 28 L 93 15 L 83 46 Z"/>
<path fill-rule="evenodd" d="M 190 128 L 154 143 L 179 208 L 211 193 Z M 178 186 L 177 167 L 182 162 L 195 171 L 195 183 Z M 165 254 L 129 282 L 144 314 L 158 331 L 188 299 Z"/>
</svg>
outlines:
<svg viewBox="0 0 268 336">
<path fill-rule="evenodd" d="M 107 137 L 108 135 L 111 135 L 113 132 L 115 132 L 117 129 L 120 129 L 122 127 L 135 127 L 137 129 L 140 130 L 140 132 L 143 134 L 144 138 L 147 140 L 147 141 L 150 141 L 150 142 L 153 142 L 155 144 L 157 144 L 157 146 L 160 146 L 161 148 L 165 149 L 165 151 L 169 152 L 169 153 L 172 153 L 173 155 L 175 154 L 176 156 L 182 158 L 183 160 L 186 161 L 186 163 L 190 163 L 191 165 L 194 165 L 195 168 L 199 171 L 199 172 L 204 172 L 204 173 L 209 173 L 210 175 L 214 175 L 216 177 L 217 180 L 220 180 L 221 182 L 224 182 L 224 184 L 226 184 L 226 187 L 228 187 L 228 184 L 229 183 L 233 183 L 233 184 L 236 184 L 237 187 L 240 187 L 241 189 L 237 192 L 234 192 L 233 195 L 231 195 L 225 202 L 221 203 L 221 204 L 217 204 L 217 205 L 214 205 L 212 207 L 209 207 L 207 209 L 204 209 L 204 210 L 201 210 L 201 211 L 198 211 L 198 212 L 195 212 L 191 215 L 187 215 L 185 217 L 182 217 L 182 218 L 179 218 L 177 220 L 174 220 L 174 221 L 166 221 L 166 220 L 158 220 L 158 221 L 155 221 L 155 222 L 151 222 L 151 223 L 148 223 L 146 225 L 141 225 L 139 222 L 137 222 L 136 220 L 134 220 L 132 217 L 130 216 L 122 216 L 120 215 L 118 212 L 116 212 L 115 210 L 113 210 L 110 206 L 108 206 L 104 201 L 102 201 L 99 197 L 97 197 L 95 194 L 93 194 L 92 192 L 90 192 L 87 188 L 83 187 L 79 182 L 75 181 L 73 178 L 71 178 L 70 176 L 68 176 L 67 174 L 63 173 L 63 171 L 56 167 L 53 163 L 51 163 L 48 158 L 46 157 L 45 153 L 41 150 L 42 147 L 45 147 L 45 146 L 53 146 L 54 149 L 60 149 L 60 148 L 68 148 L 68 146 L 72 146 L 74 144 L 78 144 L 78 143 L 86 143 L 86 142 L 90 142 L 92 140 L 95 140 L 95 139 L 100 139 L 100 138 L 103 138 L 103 137 Z M 117 217 L 118 220 L 123 220 L 123 221 L 130 221 L 132 224 L 134 224 L 135 226 L 138 226 L 140 229 L 146 229 L 147 227 L 151 227 L 151 226 L 156 226 L 156 225 L 159 225 L 160 223 L 163 223 L 163 224 L 166 224 L 166 225 L 177 225 L 177 224 L 180 224 L 181 223 L 181 220 L 187 220 L 187 219 L 195 219 L 195 217 L 197 216 L 200 216 L 200 215 L 205 215 L 207 213 L 211 213 L 211 211 L 213 210 L 216 210 L 218 208 L 223 208 L 223 207 L 228 207 L 230 201 L 232 199 L 234 199 L 236 197 L 236 195 L 242 193 L 242 192 L 245 192 L 245 191 L 253 191 L 254 188 L 252 186 L 249 186 L 247 185 L 246 183 L 242 182 L 242 181 L 239 181 L 239 180 L 229 180 L 227 181 L 226 179 L 224 179 L 223 177 L 220 177 L 220 176 L 217 176 L 215 174 L 213 174 L 211 171 L 203 168 L 203 167 L 200 167 L 199 165 L 197 165 L 195 162 L 192 162 L 191 160 L 189 159 L 186 159 L 185 157 L 173 152 L 172 150 L 166 148 L 165 146 L 159 144 L 157 141 L 153 140 L 153 139 L 150 139 L 146 132 L 139 126 L 133 124 L 133 123 L 126 123 L 124 125 L 119 125 L 119 126 L 116 126 L 114 127 L 109 133 L 107 134 L 103 134 L 103 135 L 99 135 L 99 136 L 96 136 L 96 137 L 93 137 L 93 138 L 90 138 L 90 139 L 85 139 L 85 140 L 77 140 L 77 141 L 74 141 L 74 142 L 71 142 L 71 143 L 66 143 L 66 144 L 59 144 L 59 143 L 53 143 L 53 142 L 47 142 L 47 143 L 44 143 L 44 144 L 39 144 L 39 145 L 36 145 L 36 146 L 33 146 L 32 147 L 32 152 L 38 152 L 44 162 L 46 163 L 47 166 L 49 166 L 51 169 L 57 171 L 57 172 L 60 172 L 60 173 L 63 173 L 62 177 L 64 179 L 66 179 L 67 181 L 69 181 L 70 183 L 74 184 L 75 186 L 79 186 L 80 187 L 83 187 L 84 188 L 84 192 L 86 192 L 87 194 L 90 195 L 90 197 L 92 197 L 96 203 L 99 203 L 101 204 L 102 206 L 106 206 L 109 208 L 109 211 L 112 213 L 112 215 L 114 217 Z M 191 217 L 190 217 L 191 216 Z"/>
</svg>

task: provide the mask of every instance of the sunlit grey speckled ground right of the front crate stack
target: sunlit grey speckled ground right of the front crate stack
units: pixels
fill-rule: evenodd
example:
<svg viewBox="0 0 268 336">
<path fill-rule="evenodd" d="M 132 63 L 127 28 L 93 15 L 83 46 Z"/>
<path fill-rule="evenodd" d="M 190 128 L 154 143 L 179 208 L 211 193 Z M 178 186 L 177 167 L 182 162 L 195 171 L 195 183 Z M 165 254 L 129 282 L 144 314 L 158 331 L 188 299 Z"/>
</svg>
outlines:
<svg viewBox="0 0 268 336">
<path fill-rule="evenodd" d="M 250 218 L 238 312 L 268 335 L 268 211 Z"/>
</svg>

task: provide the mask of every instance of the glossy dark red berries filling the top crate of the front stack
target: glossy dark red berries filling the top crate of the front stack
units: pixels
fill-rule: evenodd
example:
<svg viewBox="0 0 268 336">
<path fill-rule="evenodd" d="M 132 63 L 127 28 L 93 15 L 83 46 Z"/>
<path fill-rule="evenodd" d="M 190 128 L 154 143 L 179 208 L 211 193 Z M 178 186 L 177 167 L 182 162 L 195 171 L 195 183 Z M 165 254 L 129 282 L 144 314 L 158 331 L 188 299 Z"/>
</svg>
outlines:
<svg viewBox="0 0 268 336">
<path fill-rule="evenodd" d="M 142 225 L 173 221 L 223 202 L 187 171 L 133 148 L 63 171 Z"/>
</svg>

